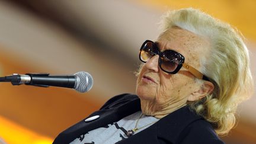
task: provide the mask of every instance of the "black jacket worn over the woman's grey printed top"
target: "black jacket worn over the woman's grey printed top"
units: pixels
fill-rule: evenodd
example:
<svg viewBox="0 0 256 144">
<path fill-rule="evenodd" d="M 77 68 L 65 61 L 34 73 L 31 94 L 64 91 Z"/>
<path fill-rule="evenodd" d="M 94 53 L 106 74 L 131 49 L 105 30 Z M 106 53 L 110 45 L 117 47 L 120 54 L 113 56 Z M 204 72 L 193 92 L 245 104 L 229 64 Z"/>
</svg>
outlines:
<svg viewBox="0 0 256 144">
<path fill-rule="evenodd" d="M 90 130 L 119 121 L 123 117 L 139 111 L 140 100 L 137 95 L 122 94 L 111 98 L 88 117 L 99 115 L 100 118 L 84 120 L 60 133 L 54 140 L 57 143 L 70 143 Z M 121 140 L 124 143 L 223 143 L 216 135 L 211 124 L 191 111 L 188 106 L 180 108 L 163 117 L 152 126 Z"/>
</svg>

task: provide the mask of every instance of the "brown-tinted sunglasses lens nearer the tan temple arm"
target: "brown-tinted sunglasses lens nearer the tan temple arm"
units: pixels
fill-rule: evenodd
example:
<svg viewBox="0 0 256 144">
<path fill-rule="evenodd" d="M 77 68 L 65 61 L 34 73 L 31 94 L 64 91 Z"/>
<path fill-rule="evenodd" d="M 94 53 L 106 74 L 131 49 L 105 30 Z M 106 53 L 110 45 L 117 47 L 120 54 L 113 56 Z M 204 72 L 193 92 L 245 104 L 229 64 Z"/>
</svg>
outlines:
<svg viewBox="0 0 256 144">
<path fill-rule="evenodd" d="M 181 55 L 172 50 L 165 50 L 160 56 L 160 67 L 167 72 L 174 72 L 181 62 Z"/>
</svg>

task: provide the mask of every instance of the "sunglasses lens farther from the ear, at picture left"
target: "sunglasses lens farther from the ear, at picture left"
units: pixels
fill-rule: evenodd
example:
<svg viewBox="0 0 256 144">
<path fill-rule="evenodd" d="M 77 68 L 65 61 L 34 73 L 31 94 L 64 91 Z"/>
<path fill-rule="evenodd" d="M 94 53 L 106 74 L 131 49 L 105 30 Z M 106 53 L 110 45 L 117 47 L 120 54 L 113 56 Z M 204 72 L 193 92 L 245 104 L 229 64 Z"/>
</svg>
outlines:
<svg viewBox="0 0 256 144">
<path fill-rule="evenodd" d="M 157 52 L 157 47 L 154 46 L 154 43 L 149 41 L 143 44 L 142 49 L 140 50 L 140 60 L 142 60 L 142 62 L 147 62 L 151 57 L 155 56 Z"/>
</svg>

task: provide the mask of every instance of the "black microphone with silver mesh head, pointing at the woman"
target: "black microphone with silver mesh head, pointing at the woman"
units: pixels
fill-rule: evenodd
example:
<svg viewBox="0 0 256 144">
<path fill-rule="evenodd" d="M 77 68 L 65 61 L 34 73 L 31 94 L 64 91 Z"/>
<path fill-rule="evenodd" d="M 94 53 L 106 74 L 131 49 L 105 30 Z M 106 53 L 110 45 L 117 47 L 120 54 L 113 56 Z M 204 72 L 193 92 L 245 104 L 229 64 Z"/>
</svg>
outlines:
<svg viewBox="0 0 256 144">
<path fill-rule="evenodd" d="M 93 79 L 88 72 L 76 72 L 73 75 L 49 75 L 49 73 L 26 73 L 0 77 L 0 82 L 11 82 L 12 85 L 34 85 L 39 87 L 73 88 L 78 92 L 87 92 L 92 88 Z"/>
</svg>

